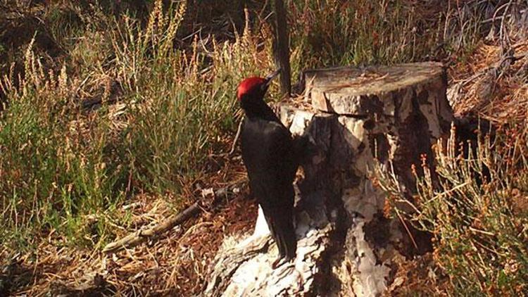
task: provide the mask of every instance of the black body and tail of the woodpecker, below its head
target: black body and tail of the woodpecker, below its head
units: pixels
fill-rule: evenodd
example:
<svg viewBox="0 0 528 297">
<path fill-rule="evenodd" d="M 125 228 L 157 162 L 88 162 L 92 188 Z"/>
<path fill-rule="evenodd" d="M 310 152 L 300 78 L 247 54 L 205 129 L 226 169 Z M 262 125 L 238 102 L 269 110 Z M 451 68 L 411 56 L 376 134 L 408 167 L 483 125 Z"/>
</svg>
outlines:
<svg viewBox="0 0 528 297">
<path fill-rule="evenodd" d="M 291 134 L 277 122 L 246 126 L 243 158 L 251 191 L 262 207 L 281 256 L 293 257 L 296 251 L 293 227 L 296 162 Z"/>
</svg>

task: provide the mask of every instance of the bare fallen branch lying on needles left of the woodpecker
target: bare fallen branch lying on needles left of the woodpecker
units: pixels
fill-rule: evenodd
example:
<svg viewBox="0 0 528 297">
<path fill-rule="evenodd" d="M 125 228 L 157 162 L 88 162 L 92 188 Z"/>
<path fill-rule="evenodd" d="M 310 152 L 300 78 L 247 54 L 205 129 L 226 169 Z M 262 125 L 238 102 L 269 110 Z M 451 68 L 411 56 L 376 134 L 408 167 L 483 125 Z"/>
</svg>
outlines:
<svg viewBox="0 0 528 297">
<path fill-rule="evenodd" d="M 144 230 L 138 230 L 137 232 L 128 234 L 127 236 L 123 237 L 122 239 L 119 239 L 118 241 L 114 241 L 111 244 L 107 244 L 103 248 L 103 252 L 114 253 L 124 248 L 131 248 L 132 246 L 137 246 L 138 244 L 141 244 L 143 241 L 150 239 L 153 236 L 158 236 L 177 225 L 181 225 L 182 223 L 187 222 L 187 220 L 189 220 L 191 217 L 194 217 L 198 213 L 201 213 L 204 208 L 209 210 L 217 208 L 220 204 L 222 204 L 222 202 L 227 201 L 226 199 L 222 199 L 222 197 L 227 198 L 227 196 L 229 196 L 228 194 L 233 194 L 235 192 L 234 189 L 237 189 L 239 186 L 240 184 L 237 183 L 232 184 L 228 187 L 224 187 L 222 189 L 218 189 L 217 191 L 213 191 L 213 199 L 211 199 L 208 206 L 201 206 L 201 203 L 196 202 L 188 208 L 182 210 L 182 212 L 177 213 L 175 215 L 171 215 L 167 218 L 167 220 L 164 220 L 163 222 L 159 223 L 158 225 L 155 225 L 154 227 Z"/>
</svg>

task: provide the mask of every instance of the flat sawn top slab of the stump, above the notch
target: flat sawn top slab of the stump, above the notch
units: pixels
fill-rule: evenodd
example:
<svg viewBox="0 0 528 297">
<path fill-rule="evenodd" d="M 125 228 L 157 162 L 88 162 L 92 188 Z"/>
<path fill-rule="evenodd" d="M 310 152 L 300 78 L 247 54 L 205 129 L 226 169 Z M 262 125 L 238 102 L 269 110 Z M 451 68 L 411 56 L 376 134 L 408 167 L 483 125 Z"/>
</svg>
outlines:
<svg viewBox="0 0 528 297">
<path fill-rule="evenodd" d="M 312 106 L 341 115 L 365 115 L 372 110 L 372 101 L 384 103 L 423 84 L 435 84 L 433 89 L 445 85 L 445 70 L 435 62 L 327 68 L 304 75 Z"/>
</svg>

